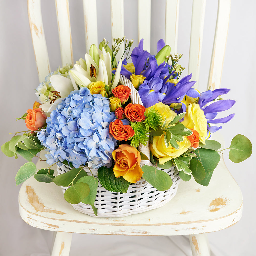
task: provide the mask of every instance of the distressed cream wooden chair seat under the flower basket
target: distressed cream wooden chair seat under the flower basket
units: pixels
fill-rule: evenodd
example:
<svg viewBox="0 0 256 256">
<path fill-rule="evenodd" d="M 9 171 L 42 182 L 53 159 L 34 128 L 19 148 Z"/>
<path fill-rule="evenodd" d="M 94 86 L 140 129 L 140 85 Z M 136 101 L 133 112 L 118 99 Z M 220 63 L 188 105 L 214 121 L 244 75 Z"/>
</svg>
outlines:
<svg viewBox="0 0 256 256">
<path fill-rule="evenodd" d="M 46 164 L 39 162 L 37 168 Z M 61 187 L 34 177 L 19 192 L 20 216 L 29 225 L 46 230 L 87 234 L 185 235 L 218 231 L 238 222 L 242 194 L 223 159 L 208 187 L 193 179 L 180 182 L 176 196 L 166 205 L 126 217 L 91 217 L 73 209 Z"/>
</svg>

